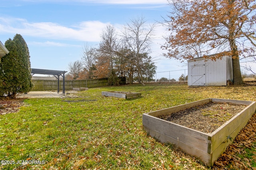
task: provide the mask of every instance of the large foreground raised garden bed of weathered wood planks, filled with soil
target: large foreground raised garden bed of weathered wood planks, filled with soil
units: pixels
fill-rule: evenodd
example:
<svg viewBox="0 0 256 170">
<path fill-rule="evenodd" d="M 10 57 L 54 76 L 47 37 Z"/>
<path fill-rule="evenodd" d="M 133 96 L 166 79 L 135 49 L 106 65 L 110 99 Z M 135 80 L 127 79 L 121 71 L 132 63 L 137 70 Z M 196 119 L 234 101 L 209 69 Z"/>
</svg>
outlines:
<svg viewBox="0 0 256 170">
<path fill-rule="evenodd" d="M 246 126 L 255 109 L 256 102 L 208 98 L 144 113 L 142 124 L 150 136 L 162 143 L 173 143 L 212 166 Z"/>
</svg>

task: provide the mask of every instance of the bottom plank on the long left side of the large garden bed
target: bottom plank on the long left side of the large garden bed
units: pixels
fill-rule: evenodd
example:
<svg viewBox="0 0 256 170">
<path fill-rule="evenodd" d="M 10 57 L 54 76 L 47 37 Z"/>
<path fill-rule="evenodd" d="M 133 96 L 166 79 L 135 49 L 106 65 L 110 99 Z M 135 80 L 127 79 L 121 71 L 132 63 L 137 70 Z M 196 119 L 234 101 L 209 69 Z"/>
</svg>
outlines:
<svg viewBox="0 0 256 170">
<path fill-rule="evenodd" d="M 143 129 L 148 132 L 148 134 L 152 137 L 156 137 L 159 139 L 162 143 L 170 143 L 175 144 L 176 147 L 179 147 L 184 152 L 191 154 L 193 156 L 196 156 L 197 158 L 200 158 L 203 160 L 207 166 L 211 166 L 211 155 L 205 152 L 204 150 L 200 150 L 196 147 L 193 147 L 191 145 L 188 145 L 187 143 L 184 143 L 183 141 L 180 141 L 178 139 L 175 139 L 173 137 L 170 137 L 164 133 L 160 133 L 159 131 L 156 131 L 150 127 L 147 127 L 143 125 Z"/>
</svg>

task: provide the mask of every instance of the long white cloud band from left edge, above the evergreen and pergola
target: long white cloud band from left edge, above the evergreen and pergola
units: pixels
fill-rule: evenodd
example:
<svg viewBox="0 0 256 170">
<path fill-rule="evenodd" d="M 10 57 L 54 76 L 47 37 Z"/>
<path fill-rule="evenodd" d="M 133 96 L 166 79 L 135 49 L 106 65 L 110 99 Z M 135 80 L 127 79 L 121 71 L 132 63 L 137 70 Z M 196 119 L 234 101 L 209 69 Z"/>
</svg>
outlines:
<svg viewBox="0 0 256 170">
<path fill-rule="evenodd" d="M 0 18 L 1 33 L 19 33 L 45 39 L 100 41 L 100 33 L 110 23 L 84 21 L 69 27 L 52 22 L 30 23 L 20 18 Z"/>
</svg>

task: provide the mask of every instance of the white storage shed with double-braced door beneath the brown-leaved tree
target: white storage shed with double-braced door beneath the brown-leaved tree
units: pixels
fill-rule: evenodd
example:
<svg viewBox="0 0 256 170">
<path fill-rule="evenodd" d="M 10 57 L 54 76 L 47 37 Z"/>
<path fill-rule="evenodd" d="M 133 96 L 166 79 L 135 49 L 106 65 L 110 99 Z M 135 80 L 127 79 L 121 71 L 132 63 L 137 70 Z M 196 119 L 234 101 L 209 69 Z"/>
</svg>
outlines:
<svg viewBox="0 0 256 170">
<path fill-rule="evenodd" d="M 233 82 L 232 58 L 212 61 L 204 57 L 188 61 L 188 86 L 227 86 Z"/>
</svg>

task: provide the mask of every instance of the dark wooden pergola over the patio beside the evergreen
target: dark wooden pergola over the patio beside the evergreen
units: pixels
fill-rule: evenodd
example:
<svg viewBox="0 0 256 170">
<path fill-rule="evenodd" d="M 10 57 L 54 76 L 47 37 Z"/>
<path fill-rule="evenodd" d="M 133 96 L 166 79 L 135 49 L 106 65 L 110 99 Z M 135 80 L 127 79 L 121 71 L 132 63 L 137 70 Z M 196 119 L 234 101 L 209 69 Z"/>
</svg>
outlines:
<svg viewBox="0 0 256 170">
<path fill-rule="evenodd" d="M 54 75 L 58 79 L 58 93 L 60 92 L 60 76 L 63 77 L 63 89 L 62 93 L 65 94 L 65 73 L 67 71 L 59 71 L 59 70 L 45 70 L 45 69 L 38 69 L 38 68 L 31 68 L 31 74 L 47 74 L 47 75 Z"/>
</svg>

